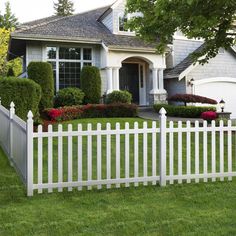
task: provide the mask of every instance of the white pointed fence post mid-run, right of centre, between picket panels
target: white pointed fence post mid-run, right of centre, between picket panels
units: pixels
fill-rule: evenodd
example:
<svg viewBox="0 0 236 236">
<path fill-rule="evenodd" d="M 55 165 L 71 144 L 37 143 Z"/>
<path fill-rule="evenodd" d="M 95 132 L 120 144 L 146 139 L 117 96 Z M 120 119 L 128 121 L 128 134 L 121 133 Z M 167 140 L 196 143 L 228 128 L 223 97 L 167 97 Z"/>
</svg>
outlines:
<svg viewBox="0 0 236 236">
<path fill-rule="evenodd" d="M 166 110 L 161 108 L 160 114 L 160 186 L 166 186 Z"/>
</svg>

